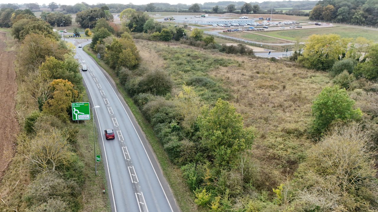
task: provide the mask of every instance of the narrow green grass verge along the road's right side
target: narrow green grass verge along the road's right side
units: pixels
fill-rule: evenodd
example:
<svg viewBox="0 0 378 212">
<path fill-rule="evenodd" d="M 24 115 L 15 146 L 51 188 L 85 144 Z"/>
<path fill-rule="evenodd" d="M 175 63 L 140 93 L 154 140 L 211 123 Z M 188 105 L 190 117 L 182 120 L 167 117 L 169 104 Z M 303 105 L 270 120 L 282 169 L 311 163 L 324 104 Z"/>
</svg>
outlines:
<svg viewBox="0 0 378 212">
<path fill-rule="evenodd" d="M 126 94 L 126 92 L 122 89 L 118 78 L 116 78 L 112 69 L 110 69 L 102 60 L 99 60 L 96 57 L 96 54 L 93 53 L 89 49 L 89 45 L 83 47 L 84 51 L 87 52 L 88 55 L 93 57 L 95 61 L 113 78 L 118 88 L 118 91 L 122 94 L 124 100 L 129 105 L 130 110 L 133 112 L 134 117 L 138 121 L 139 126 L 141 126 L 144 134 L 146 135 L 147 140 L 149 141 L 150 145 L 152 146 L 153 152 L 156 155 L 156 158 L 159 161 L 161 169 L 163 170 L 164 177 L 169 183 L 170 188 L 175 196 L 175 199 L 178 203 L 182 212 L 195 212 L 197 211 L 197 207 L 193 202 L 193 194 L 188 189 L 186 182 L 181 177 L 180 167 L 170 163 L 169 158 L 164 151 L 163 146 L 159 142 L 158 138 L 155 136 L 151 125 L 148 121 L 143 117 L 141 112 L 139 111 L 138 107 L 134 104 L 133 100 Z M 138 48 L 140 49 L 140 48 Z M 141 51 L 142 49 L 140 49 Z M 151 52 L 152 53 L 152 52 Z M 147 53 L 148 54 L 148 53 Z M 149 55 L 150 59 L 153 62 L 153 55 Z M 153 66 L 159 64 L 159 61 L 156 61 Z M 152 67 L 152 66 L 151 66 Z"/>
</svg>

